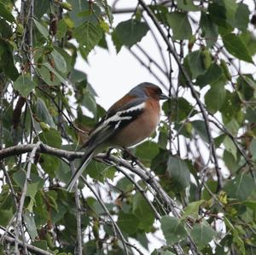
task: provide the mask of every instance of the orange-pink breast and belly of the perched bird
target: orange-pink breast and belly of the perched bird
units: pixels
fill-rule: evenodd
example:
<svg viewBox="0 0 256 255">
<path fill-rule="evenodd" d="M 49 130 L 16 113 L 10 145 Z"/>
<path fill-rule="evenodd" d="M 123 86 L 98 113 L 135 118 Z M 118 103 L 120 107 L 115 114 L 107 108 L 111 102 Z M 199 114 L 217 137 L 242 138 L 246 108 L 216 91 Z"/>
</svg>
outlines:
<svg viewBox="0 0 256 255">
<path fill-rule="evenodd" d="M 150 136 L 160 121 L 159 101 L 146 102 L 144 112 L 131 124 L 125 126 L 111 139 L 110 143 L 120 147 L 131 147 Z"/>
</svg>

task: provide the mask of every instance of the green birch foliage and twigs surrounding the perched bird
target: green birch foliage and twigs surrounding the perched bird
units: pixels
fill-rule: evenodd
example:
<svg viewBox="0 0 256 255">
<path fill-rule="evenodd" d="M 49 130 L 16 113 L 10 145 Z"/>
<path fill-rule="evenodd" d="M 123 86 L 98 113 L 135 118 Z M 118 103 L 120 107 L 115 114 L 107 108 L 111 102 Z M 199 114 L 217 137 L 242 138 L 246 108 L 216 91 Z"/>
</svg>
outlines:
<svg viewBox="0 0 256 255">
<path fill-rule="evenodd" d="M 161 232 L 165 240 L 151 254 L 254 254 L 253 8 L 138 0 L 115 24 L 122 9 L 107 0 L 18 2 L 0 0 L 1 252 L 136 254 L 148 250 L 148 234 Z M 117 53 L 139 49 L 150 64 L 137 60 L 172 99 L 154 137 L 133 148 L 137 165 L 119 154 L 97 158 L 84 171 L 86 187 L 80 181 L 68 193 L 79 142 L 105 112 L 75 63 L 108 49 L 106 38 Z"/>
</svg>

